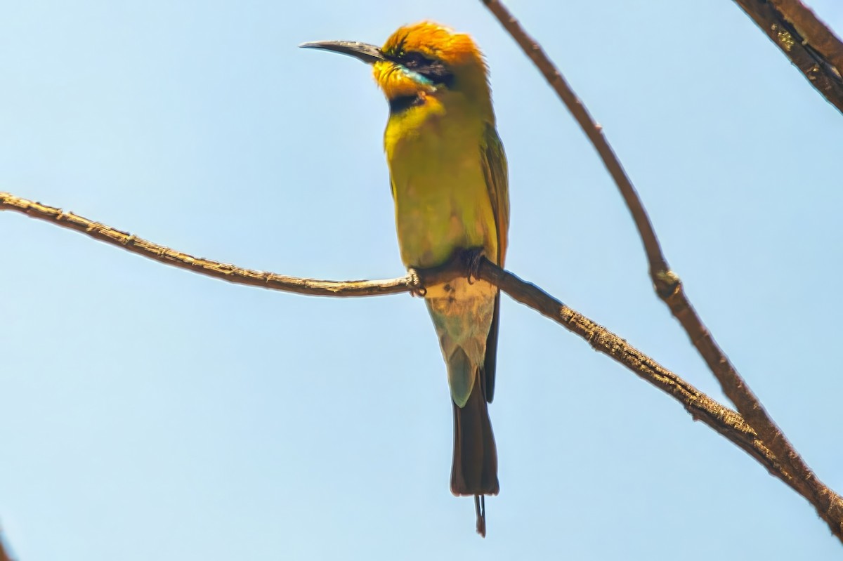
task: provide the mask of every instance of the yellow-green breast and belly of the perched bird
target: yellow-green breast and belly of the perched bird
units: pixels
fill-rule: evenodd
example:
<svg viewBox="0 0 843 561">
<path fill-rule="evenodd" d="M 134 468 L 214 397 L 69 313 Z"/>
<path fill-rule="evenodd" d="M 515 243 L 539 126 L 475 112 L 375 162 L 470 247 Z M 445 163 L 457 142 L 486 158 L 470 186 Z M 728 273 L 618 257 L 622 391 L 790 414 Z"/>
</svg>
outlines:
<svg viewBox="0 0 843 561">
<path fill-rule="evenodd" d="M 401 259 L 443 264 L 457 248 L 497 252 L 497 230 L 481 163 L 485 123 L 438 99 L 390 115 L 384 135 Z"/>
</svg>

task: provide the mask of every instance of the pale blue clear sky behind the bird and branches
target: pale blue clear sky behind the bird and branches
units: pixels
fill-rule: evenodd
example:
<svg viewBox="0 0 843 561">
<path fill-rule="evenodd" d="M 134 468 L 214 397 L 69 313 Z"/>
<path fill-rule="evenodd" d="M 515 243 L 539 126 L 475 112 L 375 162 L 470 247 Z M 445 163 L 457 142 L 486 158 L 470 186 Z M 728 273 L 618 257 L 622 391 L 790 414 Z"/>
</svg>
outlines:
<svg viewBox="0 0 843 561">
<path fill-rule="evenodd" d="M 843 491 L 843 116 L 728 0 L 510 7 L 636 183 L 702 318 Z M 837 0 L 811 5 L 843 31 Z M 61 2 L 0 17 L 0 190 L 287 275 L 401 275 L 367 67 L 436 19 L 491 66 L 507 266 L 715 398 L 626 207 L 480 2 Z M 504 298 L 489 535 L 448 490 L 421 301 L 298 297 L 0 215 L 0 523 L 21 561 L 840 558 L 791 489 Z"/>
</svg>

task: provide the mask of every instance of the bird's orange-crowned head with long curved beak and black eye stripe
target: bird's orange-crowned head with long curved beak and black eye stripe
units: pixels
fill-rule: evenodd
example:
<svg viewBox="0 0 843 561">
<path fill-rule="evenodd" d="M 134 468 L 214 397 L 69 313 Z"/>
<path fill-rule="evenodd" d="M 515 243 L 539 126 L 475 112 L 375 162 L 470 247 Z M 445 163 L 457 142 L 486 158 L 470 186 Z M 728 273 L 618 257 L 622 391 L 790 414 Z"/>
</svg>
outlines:
<svg viewBox="0 0 843 561">
<path fill-rule="evenodd" d="M 491 100 L 486 61 L 469 35 L 432 22 L 405 25 L 384 46 L 357 41 L 314 41 L 303 47 L 339 52 L 371 64 L 390 107 L 423 103 L 428 95 L 459 92 L 479 104 Z M 484 107 L 484 109 L 486 109 Z"/>
</svg>

